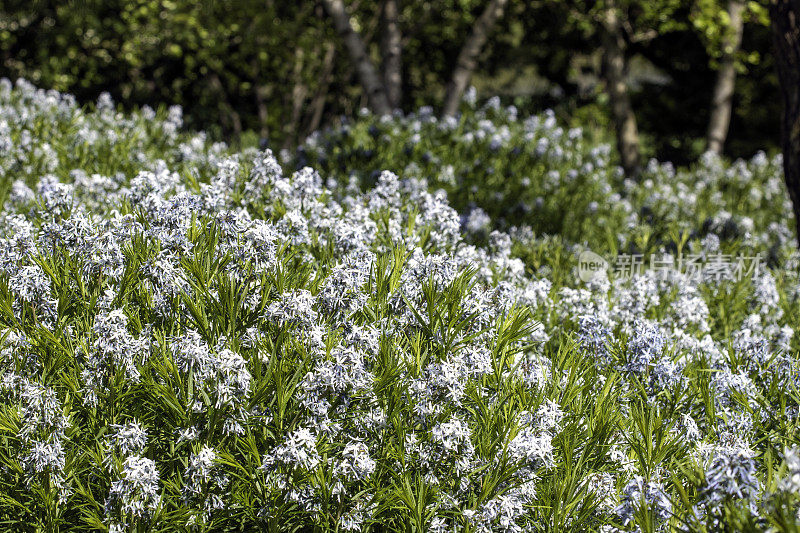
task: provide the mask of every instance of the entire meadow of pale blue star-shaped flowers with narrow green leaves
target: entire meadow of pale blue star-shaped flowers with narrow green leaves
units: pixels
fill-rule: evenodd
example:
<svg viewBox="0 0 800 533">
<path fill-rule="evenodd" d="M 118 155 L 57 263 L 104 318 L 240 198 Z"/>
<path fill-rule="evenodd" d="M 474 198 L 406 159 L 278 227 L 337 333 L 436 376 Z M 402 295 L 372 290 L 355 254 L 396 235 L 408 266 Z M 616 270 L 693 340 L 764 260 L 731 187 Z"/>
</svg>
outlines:
<svg viewBox="0 0 800 533">
<path fill-rule="evenodd" d="M 799 530 L 779 158 L 611 157 L 496 101 L 234 153 L 0 81 L 0 527 Z"/>
</svg>

